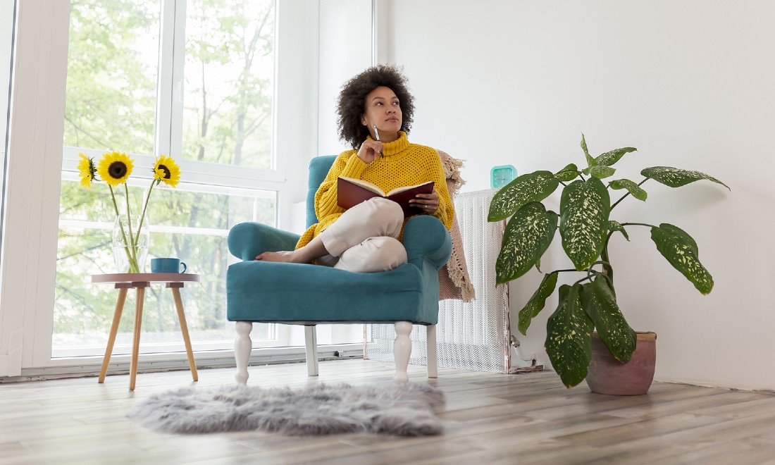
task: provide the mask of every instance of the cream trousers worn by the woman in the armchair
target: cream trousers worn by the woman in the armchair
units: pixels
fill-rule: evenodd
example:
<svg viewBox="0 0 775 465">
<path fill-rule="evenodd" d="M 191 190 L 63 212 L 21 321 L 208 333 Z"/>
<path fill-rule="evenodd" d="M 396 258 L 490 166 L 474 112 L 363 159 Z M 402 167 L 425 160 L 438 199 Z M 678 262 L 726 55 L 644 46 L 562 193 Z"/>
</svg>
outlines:
<svg viewBox="0 0 775 465">
<path fill-rule="evenodd" d="M 406 249 L 398 241 L 404 212 L 386 198 L 370 198 L 344 212 L 320 233 L 329 255 L 315 263 L 341 270 L 372 273 L 387 271 L 407 262 Z"/>
</svg>

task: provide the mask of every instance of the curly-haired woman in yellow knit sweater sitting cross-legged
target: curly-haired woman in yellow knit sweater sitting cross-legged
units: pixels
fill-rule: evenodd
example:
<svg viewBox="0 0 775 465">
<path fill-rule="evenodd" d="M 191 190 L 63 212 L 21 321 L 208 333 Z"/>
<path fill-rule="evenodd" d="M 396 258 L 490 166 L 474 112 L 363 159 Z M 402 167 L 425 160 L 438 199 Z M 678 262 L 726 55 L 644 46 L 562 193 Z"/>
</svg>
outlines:
<svg viewBox="0 0 775 465">
<path fill-rule="evenodd" d="M 386 192 L 433 181 L 432 193 L 418 194 L 409 202 L 449 229 L 453 203 L 439 153 L 407 139 L 414 109 L 414 98 L 398 67 L 377 65 L 347 81 L 337 107 L 339 137 L 353 150 L 336 157 L 315 194 L 319 222 L 301 235 L 296 250 L 264 252 L 256 260 L 315 262 L 359 272 L 392 270 L 406 263 L 400 242 L 405 225 L 401 207 L 371 198 L 345 210 L 337 205 L 339 176 L 369 181 Z"/>
</svg>

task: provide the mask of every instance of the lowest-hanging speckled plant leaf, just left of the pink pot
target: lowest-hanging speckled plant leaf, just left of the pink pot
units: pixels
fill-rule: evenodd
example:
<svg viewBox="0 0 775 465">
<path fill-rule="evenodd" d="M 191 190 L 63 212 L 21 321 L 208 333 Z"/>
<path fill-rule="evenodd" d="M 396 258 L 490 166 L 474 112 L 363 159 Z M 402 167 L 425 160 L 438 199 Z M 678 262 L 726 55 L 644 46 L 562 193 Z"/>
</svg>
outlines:
<svg viewBox="0 0 775 465">
<path fill-rule="evenodd" d="M 560 286 L 560 304 L 546 322 L 546 354 L 566 387 L 587 377 L 592 358 L 592 320 L 581 308 L 581 284 Z"/>
</svg>

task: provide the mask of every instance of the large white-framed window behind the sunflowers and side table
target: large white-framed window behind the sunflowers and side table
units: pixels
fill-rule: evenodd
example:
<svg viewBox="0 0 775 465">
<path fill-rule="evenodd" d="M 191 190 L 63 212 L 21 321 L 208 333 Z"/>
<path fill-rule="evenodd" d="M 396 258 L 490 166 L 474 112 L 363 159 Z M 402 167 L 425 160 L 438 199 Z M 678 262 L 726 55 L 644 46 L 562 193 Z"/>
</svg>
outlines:
<svg viewBox="0 0 775 465">
<path fill-rule="evenodd" d="M 226 236 L 237 222 L 275 225 L 273 0 L 83 0 L 71 3 L 53 356 L 105 350 L 115 293 L 90 275 L 115 272 L 115 211 L 104 183 L 77 182 L 77 153 L 133 157 L 138 212 L 160 153 L 181 165 L 176 189 L 154 188 L 150 257 L 180 257 L 202 283 L 184 289 L 195 350 L 230 347 Z M 126 308 L 133 305 L 129 293 Z M 146 293 L 143 350 L 181 350 L 170 292 Z M 131 313 L 131 312 L 129 312 Z M 126 314 L 125 314 L 126 315 Z M 115 353 L 131 346 L 123 319 Z M 285 341 L 270 325 L 257 345 Z"/>
</svg>

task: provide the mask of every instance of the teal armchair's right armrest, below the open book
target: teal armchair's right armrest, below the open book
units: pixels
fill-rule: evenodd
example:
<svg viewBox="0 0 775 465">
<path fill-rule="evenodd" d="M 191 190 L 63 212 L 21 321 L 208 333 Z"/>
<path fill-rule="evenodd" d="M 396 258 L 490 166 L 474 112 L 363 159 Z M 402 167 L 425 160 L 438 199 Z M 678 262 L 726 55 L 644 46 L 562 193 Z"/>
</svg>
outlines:
<svg viewBox="0 0 775 465">
<path fill-rule="evenodd" d="M 452 253 L 452 238 L 439 219 L 429 215 L 412 216 L 404 227 L 404 247 L 409 263 L 422 270 L 429 260 L 438 270 Z"/>
</svg>

